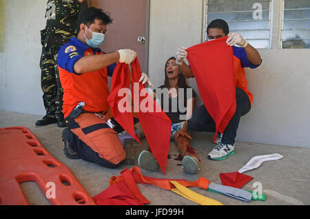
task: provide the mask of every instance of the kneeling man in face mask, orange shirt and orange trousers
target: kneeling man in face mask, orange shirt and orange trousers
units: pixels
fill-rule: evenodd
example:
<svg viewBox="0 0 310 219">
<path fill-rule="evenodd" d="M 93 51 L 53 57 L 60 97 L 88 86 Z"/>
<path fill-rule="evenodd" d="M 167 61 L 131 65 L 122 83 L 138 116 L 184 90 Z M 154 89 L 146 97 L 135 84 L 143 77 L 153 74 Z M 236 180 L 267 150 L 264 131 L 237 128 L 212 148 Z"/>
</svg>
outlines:
<svg viewBox="0 0 310 219">
<path fill-rule="evenodd" d="M 59 50 L 58 65 L 68 126 L 63 131 L 65 155 L 116 168 L 125 160 L 125 151 L 115 131 L 121 127 L 107 104 L 107 76 L 112 76 L 116 62 L 132 63 L 136 52 L 101 51 L 110 23 L 112 19 L 101 9 L 83 10 L 77 21 L 77 38 L 72 37 Z M 141 81 L 151 84 L 146 74 L 142 74 Z"/>
</svg>

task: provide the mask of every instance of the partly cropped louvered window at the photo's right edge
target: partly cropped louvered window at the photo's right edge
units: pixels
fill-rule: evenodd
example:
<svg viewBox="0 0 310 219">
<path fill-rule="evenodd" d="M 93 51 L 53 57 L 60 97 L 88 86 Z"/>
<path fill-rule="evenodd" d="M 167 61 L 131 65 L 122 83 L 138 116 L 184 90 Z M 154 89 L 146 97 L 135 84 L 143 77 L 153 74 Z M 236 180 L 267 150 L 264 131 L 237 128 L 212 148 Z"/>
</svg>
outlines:
<svg viewBox="0 0 310 219">
<path fill-rule="evenodd" d="M 310 0 L 283 0 L 282 48 L 310 48 Z"/>
</svg>

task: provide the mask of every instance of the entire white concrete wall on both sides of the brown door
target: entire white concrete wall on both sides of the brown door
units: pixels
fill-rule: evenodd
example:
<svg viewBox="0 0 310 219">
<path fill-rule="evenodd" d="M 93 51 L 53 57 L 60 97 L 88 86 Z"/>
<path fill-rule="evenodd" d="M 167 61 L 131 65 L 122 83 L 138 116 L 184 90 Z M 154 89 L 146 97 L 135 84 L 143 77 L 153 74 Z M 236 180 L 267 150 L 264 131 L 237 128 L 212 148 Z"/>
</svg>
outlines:
<svg viewBox="0 0 310 219">
<path fill-rule="evenodd" d="M 46 2 L 6 3 L 0 110 L 43 115 L 39 59 Z M 149 75 L 154 85 L 163 84 L 165 61 L 180 45 L 201 42 L 202 8 L 202 0 L 151 0 Z M 237 140 L 310 147 L 310 50 L 259 52 L 264 62 L 256 70 L 247 70 L 249 90 L 254 94 L 253 109 L 242 118 Z M 196 90 L 194 79 L 189 85 Z"/>
</svg>

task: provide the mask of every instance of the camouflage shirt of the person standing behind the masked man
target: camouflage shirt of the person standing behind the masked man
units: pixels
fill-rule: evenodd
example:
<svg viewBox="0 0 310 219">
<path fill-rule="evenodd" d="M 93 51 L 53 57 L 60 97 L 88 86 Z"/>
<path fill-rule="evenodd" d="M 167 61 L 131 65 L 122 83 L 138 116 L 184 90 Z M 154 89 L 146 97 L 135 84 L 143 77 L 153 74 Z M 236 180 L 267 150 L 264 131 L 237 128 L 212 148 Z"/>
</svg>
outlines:
<svg viewBox="0 0 310 219">
<path fill-rule="evenodd" d="M 60 48 L 76 36 L 76 20 L 84 8 L 87 0 L 48 0 L 46 27 L 41 30 L 43 47 Z"/>
</svg>

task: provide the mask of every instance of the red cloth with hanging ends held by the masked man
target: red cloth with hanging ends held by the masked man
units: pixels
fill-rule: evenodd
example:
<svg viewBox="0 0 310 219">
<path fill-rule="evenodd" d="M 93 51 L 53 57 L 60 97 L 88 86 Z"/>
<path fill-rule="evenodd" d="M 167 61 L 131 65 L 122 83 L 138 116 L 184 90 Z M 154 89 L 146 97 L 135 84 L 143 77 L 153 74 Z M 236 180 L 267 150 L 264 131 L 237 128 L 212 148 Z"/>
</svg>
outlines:
<svg viewBox="0 0 310 219">
<path fill-rule="evenodd" d="M 141 68 L 138 59 L 131 65 L 132 67 L 132 99 L 135 112 L 141 123 L 143 132 L 149 147 L 152 149 L 158 165 L 165 174 L 167 167 L 167 157 L 169 152 L 170 132 L 172 121 L 167 114 L 163 112 L 156 101 L 147 94 L 145 85 L 138 83 L 141 77 Z M 138 87 L 137 87 L 138 85 Z M 118 103 L 123 97 L 118 96 L 118 91 L 123 87 L 130 87 L 130 70 L 128 65 L 118 63 L 112 77 L 111 94 L 108 97 L 108 103 L 112 108 L 115 120 L 139 143 L 140 141 L 134 134 L 134 121 L 131 112 L 121 113 L 118 110 Z M 136 95 L 136 94 L 140 95 Z"/>
</svg>

